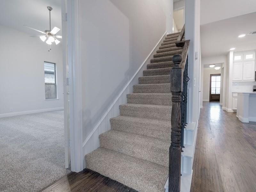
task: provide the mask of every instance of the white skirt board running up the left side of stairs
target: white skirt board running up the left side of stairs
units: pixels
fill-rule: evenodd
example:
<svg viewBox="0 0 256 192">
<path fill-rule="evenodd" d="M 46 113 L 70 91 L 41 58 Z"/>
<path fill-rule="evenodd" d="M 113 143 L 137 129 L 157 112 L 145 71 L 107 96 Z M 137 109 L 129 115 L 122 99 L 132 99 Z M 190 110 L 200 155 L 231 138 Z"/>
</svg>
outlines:
<svg viewBox="0 0 256 192">
<path fill-rule="evenodd" d="M 156 49 L 164 41 L 164 37 L 165 37 L 166 33 L 167 33 L 167 31 L 164 32 L 163 36 L 156 43 L 155 47 L 148 54 L 147 58 L 143 61 L 143 63 L 140 65 L 140 67 L 135 72 L 135 74 L 132 76 L 132 78 L 127 82 L 127 84 L 124 86 L 123 90 L 118 94 L 118 96 L 113 101 L 113 103 L 110 105 L 108 110 L 101 117 L 100 121 L 93 128 L 92 132 L 90 132 L 90 134 L 84 140 L 83 145 L 82 145 L 84 156 L 86 154 L 92 152 L 93 150 L 97 149 L 100 146 L 99 135 L 103 132 L 110 130 L 109 119 L 119 115 L 119 105 L 127 103 L 126 95 L 132 92 L 132 85 L 138 84 L 138 78 L 140 76 L 143 76 L 143 70 L 145 70 L 147 67 L 146 64 L 150 63 L 150 59 L 153 58 L 153 55 L 156 53 Z M 85 161 L 84 161 L 84 167 L 86 167 Z"/>
</svg>

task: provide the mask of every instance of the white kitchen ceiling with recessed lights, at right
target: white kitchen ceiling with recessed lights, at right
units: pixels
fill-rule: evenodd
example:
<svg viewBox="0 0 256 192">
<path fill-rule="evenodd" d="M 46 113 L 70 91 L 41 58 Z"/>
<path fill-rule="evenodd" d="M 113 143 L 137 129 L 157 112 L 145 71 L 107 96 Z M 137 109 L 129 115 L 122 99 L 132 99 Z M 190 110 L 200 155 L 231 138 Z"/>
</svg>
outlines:
<svg viewBox="0 0 256 192">
<path fill-rule="evenodd" d="M 201 25 L 202 57 L 224 55 L 233 47 L 235 52 L 256 49 L 256 35 L 238 38 L 256 31 L 255 18 L 256 12 Z"/>
</svg>

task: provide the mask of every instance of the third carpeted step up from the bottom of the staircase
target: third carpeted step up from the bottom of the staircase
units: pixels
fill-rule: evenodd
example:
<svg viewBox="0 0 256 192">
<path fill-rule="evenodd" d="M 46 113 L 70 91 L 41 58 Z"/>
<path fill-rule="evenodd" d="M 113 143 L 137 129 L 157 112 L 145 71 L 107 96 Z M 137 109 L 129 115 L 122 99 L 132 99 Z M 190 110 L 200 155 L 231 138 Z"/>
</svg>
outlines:
<svg viewBox="0 0 256 192">
<path fill-rule="evenodd" d="M 170 121 L 131 116 L 117 116 L 110 119 L 111 129 L 155 137 L 170 141 Z"/>
</svg>

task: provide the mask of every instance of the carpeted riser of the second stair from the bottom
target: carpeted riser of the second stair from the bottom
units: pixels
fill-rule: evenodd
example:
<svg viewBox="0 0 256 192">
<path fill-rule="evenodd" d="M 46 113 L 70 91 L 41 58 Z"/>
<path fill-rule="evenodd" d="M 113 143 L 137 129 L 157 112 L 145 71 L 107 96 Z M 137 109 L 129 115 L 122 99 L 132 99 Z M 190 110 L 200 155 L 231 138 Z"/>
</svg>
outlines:
<svg viewBox="0 0 256 192">
<path fill-rule="evenodd" d="M 157 147 L 145 148 L 145 144 L 138 145 L 138 143 L 127 142 L 113 137 L 100 136 L 99 138 L 100 147 L 102 148 L 168 167 L 168 146 L 166 146 L 166 150 L 160 150 Z"/>
</svg>

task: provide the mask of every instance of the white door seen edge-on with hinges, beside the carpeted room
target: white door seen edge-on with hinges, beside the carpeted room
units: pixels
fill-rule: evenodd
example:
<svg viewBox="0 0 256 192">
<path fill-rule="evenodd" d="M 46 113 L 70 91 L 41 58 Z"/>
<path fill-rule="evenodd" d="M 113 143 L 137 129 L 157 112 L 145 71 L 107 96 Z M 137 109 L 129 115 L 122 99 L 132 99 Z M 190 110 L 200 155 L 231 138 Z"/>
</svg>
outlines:
<svg viewBox="0 0 256 192">
<path fill-rule="evenodd" d="M 64 137 L 65 167 L 70 164 L 70 131 L 69 131 L 69 89 L 68 89 L 68 38 L 67 38 L 67 0 L 61 0 L 62 14 L 62 60 L 63 60 L 63 97 L 64 97 Z"/>
</svg>

